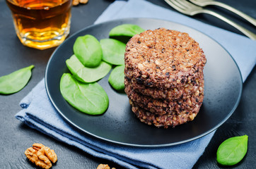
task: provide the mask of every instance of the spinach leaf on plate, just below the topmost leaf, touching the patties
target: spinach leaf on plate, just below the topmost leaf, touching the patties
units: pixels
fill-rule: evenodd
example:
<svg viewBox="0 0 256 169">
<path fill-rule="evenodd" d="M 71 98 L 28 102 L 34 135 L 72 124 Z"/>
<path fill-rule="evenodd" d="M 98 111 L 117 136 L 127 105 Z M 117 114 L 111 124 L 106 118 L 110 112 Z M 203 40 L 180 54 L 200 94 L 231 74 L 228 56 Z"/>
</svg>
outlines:
<svg viewBox="0 0 256 169">
<path fill-rule="evenodd" d="M 116 39 L 101 39 L 103 61 L 113 65 L 124 65 L 125 44 Z"/>
</svg>

